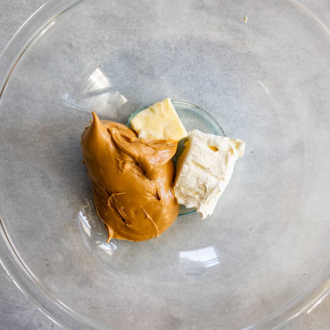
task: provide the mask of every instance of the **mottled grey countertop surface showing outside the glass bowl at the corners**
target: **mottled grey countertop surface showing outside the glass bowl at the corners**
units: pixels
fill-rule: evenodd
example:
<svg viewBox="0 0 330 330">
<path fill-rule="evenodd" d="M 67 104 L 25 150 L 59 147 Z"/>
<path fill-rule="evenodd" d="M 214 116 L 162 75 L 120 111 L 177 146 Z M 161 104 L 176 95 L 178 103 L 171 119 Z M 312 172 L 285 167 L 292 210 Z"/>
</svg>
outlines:
<svg viewBox="0 0 330 330">
<path fill-rule="evenodd" d="M 24 21 L 41 6 L 44 0 L 0 1 L 0 52 Z M 304 0 L 326 24 L 330 22 L 330 2 Z M 61 329 L 49 320 L 25 297 L 0 267 L 0 330 Z M 330 329 L 330 296 L 307 317 L 298 320 L 290 329 Z"/>
</svg>

